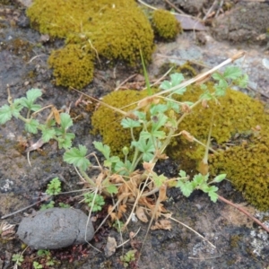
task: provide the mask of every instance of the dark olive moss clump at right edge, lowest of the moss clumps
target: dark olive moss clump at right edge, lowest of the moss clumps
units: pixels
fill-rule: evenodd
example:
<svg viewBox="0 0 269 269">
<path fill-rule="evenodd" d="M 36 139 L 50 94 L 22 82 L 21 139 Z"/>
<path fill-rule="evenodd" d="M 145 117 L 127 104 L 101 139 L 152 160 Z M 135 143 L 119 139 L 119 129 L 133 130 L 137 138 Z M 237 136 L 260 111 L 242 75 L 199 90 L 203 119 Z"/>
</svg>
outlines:
<svg viewBox="0 0 269 269">
<path fill-rule="evenodd" d="M 247 143 L 231 146 L 210 160 L 213 175 L 226 173 L 234 187 L 257 209 L 269 209 L 269 134 L 268 128 L 253 133 Z"/>
</svg>

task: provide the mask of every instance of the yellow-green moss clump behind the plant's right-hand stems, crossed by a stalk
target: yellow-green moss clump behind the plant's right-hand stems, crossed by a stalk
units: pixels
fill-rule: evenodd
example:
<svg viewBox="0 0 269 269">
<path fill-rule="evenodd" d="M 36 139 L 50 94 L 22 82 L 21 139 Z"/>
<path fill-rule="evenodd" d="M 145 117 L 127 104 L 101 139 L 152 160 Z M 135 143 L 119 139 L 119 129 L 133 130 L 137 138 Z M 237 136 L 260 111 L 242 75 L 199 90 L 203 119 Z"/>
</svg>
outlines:
<svg viewBox="0 0 269 269">
<path fill-rule="evenodd" d="M 208 83 L 212 90 L 213 84 Z M 187 87 L 186 93 L 180 97 L 180 101 L 198 100 L 203 93 L 198 86 Z M 209 108 L 197 106 L 189 116 L 180 124 L 178 133 L 186 130 L 196 139 L 206 142 L 213 117 L 212 138 L 215 143 L 227 143 L 234 134 L 246 133 L 257 125 L 265 128 L 269 124 L 269 115 L 265 113 L 265 106 L 258 100 L 248 97 L 240 91 L 228 90 L 226 95 L 208 102 Z M 204 147 L 196 143 L 188 143 L 180 136 L 176 137 L 168 149 L 169 156 L 178 159 L 187 155 L 192 160 L 201 160 L 204 156 Z"/>
</svg>

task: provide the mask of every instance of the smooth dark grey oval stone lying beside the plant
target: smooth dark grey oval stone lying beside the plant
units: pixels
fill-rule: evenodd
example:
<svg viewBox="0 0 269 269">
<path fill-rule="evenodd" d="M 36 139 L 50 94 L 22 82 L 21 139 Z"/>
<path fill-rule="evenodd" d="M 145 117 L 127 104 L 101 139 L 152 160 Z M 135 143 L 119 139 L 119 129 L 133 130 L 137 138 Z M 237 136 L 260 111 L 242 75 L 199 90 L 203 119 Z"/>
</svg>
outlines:
<svg viewBox="0 0 269 269">
<path fill-rule="evenodd" d="M 85 242 L 88 216 L 72 208 L 50 208 L 22 219 L 17 234 L 29 247 L 56 249 Z M 91 221 L 87 227 L 87 240 L 93 238 Z"/>
</svg>

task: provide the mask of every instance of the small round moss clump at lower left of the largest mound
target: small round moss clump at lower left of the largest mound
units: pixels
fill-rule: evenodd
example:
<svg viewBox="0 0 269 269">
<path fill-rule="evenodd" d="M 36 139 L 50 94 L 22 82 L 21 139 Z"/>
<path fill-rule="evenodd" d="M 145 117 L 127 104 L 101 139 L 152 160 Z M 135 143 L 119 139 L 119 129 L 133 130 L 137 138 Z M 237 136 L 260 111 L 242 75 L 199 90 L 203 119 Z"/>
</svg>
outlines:
<svg viewBox="0 0 269 269">
<path fill-rule="evenodd" d="M 54 68 L 56 85 L 82 89 L 93 78 L 93 58 L 91 51 L 80 45 L 69 44 L 54 50 L 48 58 L 48 65 Z"/>
</svg>

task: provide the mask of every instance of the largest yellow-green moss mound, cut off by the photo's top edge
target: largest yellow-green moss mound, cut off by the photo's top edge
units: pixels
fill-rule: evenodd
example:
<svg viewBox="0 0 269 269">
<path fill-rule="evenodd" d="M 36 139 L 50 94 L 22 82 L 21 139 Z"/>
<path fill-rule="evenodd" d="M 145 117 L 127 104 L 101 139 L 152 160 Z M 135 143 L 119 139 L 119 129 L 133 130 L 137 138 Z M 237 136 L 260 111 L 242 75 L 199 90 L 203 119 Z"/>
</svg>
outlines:
<svg viewBox="0 0 269 269">
<path fill-rule="evenodd" d="M 27 10 L 31 26 L 52 37 L 92 48 L 109 60 L 149 62 L 153 31 L 134 0 L 36 0 Z"/>
</svg>

